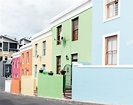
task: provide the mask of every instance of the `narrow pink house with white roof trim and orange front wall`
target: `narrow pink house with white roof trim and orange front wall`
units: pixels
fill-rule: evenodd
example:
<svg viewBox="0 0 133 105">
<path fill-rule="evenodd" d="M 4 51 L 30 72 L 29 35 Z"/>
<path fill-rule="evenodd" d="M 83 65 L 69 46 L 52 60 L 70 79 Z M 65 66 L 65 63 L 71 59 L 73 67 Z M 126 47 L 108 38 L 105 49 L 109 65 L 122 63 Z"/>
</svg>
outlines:
<svg viewBox="0 0 133 105">
<path fill-rule="evenodd" d="M 19 94 L 21 91 L 20 52 L 12 55 L 12 93 Z"/>
</svg>

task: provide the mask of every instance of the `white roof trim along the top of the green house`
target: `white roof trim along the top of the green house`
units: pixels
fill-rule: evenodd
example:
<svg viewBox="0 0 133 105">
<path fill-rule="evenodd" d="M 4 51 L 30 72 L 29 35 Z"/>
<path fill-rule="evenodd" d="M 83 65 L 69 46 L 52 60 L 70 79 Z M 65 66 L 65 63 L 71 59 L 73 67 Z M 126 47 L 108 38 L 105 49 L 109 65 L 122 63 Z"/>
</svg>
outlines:
<svg viewBox="0 0 133 105">
<path fill-rule="evenodd" d="M 92 0 L 84 0 L 51 19 L 51 26 L 55 26 L 92 7 Z"/>
</svg>

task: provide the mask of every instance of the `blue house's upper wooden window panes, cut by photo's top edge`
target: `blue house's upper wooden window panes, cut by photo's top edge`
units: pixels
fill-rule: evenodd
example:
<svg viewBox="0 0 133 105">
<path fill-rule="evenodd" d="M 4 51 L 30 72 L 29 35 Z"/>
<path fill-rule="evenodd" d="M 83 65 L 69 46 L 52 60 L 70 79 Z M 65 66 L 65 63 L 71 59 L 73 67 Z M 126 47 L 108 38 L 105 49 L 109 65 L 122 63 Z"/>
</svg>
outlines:
<svg viewBox="0 0 133 105">
<path fill-rule="evenodd" d="M 119 14 L 119 0 L 105 0 L 105 18 L 113 18 Z"/>
</svg>

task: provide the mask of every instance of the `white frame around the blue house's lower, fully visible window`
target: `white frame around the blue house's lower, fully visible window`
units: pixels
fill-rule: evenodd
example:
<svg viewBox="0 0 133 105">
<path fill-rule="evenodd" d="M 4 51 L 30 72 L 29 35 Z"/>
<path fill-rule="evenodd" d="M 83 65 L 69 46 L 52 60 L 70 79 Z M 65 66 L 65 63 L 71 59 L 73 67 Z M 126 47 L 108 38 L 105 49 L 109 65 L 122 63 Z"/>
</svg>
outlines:
<svg viewBox="0 0 133 105">
<path fill-rule="evenodd" d="M 111 36 L 114 36 L 114 35 L 117 35 L 117 64 L 116 65 L 106 65 L 105 64 L 105 57 L 106 57 L 106 55 L 105 55 L 105 41 L 106 41 L 106 37 L 111 37 Z M 115 32 L 115 33 L 110 33 L 110 34 L 106 34 L 106 35 L 104 35 L 103 36 L 103 49 L 102 49 L 102 54 L 103 54 L 103 56 L 102 56 L 102 65 L 105 65 L 105 66 L 117 66 L 117 65 L 119 65 L 119 43 L 120 43 L 120 41 L 119 41 L 119 39 L 120 39 L 120 32 Z"/>
</svg>

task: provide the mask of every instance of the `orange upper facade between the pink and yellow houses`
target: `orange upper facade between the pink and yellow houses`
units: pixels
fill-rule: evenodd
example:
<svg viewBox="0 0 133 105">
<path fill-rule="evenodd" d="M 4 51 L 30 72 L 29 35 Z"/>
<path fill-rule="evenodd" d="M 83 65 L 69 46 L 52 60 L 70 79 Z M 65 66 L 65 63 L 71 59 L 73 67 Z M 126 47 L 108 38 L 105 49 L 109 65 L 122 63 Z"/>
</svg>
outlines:
<svg viewBox="0 0 133 105">
<path fill-rule="evenodd" d="M 29 63 L 27 63 L 27 52 L 29 52 Z M 24 63 L 22 62 L 22 54 L 24 54 Z M 32 49 L 21 52 L 20 62 L 21 62 L 20 66 L 21 75 L 32 76 Z"/>
</svg>

